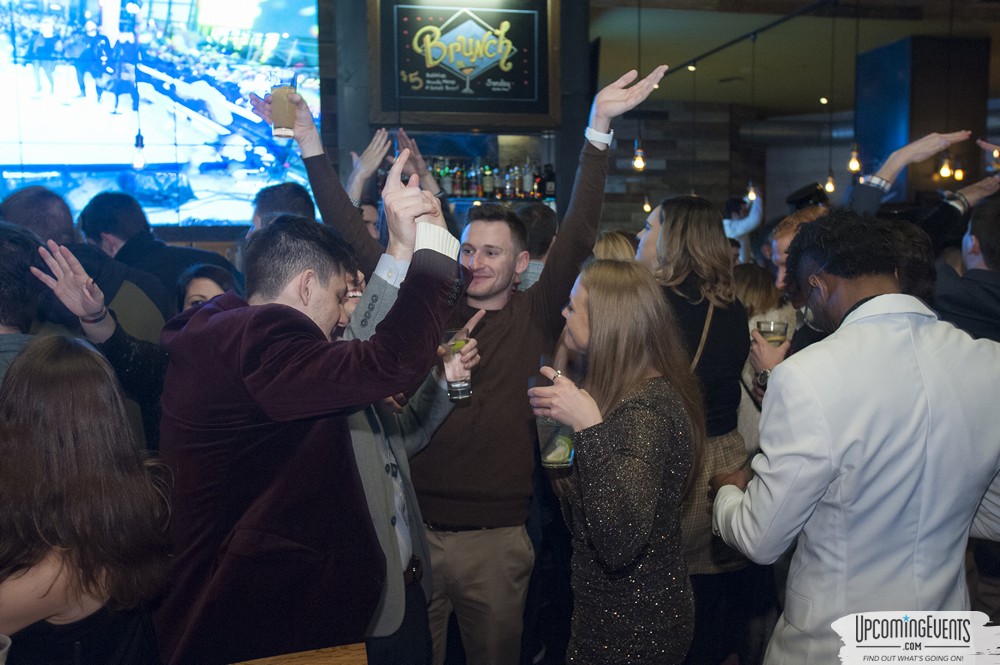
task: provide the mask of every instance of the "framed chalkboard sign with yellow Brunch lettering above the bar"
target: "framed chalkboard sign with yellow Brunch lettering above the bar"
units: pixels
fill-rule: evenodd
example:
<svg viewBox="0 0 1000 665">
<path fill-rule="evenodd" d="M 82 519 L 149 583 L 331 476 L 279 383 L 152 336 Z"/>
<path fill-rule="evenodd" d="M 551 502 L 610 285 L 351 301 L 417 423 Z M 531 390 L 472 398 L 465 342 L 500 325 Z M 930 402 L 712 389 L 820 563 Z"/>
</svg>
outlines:
<svg viewBox="0 0 1000 665">
<path fill-rule="evenodd" d="M 557 5 L 369 0 L 372 121 L 555 126 Z"/>
</svg>

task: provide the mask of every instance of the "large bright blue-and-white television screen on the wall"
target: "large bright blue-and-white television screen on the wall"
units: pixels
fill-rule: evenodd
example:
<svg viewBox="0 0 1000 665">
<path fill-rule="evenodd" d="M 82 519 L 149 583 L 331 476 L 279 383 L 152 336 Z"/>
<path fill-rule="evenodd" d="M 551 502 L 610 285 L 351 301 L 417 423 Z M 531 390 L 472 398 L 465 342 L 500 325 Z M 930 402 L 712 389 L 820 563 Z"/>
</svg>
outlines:
<svg viewBox="0 0 1000 665">
<path fill-rule="evenodd" d="M 259 189 L 305 184 L 248 98 L 293 69 L 319 122 L 316 0 L 0 0 L 0 24 L 0 196 L 116 189 L 153 224 L 246 224 Z"/>
</svg>

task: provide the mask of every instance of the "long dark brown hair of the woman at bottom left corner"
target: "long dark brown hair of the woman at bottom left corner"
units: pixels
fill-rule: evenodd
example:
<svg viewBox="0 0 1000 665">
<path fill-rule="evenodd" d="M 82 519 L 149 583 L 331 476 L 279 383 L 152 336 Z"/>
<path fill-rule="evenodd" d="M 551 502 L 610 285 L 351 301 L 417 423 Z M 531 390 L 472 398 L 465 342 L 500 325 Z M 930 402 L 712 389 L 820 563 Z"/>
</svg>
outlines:
<svg viewBox="0 0 1000 665">
<path fill-rule="evenodd" d="M 109 609 L 154 597 L 168 554 L 159 468 L 100 354 L 61 335 L 29 343 L 0 385 L 0 581 L 55 554 L 77 596 Z"/>
</svg>

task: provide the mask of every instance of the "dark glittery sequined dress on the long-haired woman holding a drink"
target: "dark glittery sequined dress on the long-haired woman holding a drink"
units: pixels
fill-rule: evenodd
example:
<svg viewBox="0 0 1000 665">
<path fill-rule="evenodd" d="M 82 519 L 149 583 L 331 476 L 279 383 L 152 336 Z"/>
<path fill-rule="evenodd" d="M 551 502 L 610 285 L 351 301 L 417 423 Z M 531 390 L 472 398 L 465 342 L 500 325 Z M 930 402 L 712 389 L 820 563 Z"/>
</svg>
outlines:
<svg viewBox="0 0 1000 665">
<path fill-rule="evenodd" d="M 568 663 L 679 663 L 694 605 L 681 553 L 691 423 L 665 379 L 574 435 L 573 619 Z"/>
</svg>

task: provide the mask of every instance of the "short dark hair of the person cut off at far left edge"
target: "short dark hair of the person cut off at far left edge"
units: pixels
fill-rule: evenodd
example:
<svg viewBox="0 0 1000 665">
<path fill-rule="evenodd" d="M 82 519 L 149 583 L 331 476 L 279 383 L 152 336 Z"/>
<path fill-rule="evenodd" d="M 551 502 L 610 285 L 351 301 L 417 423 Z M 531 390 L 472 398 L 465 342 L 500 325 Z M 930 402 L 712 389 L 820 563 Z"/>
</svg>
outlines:
<svg viewBox="0 0 1000 665">
<path fill-rule="evenodd" d="M 31 329 L 44 288 L 29 268 L 48 272 L 38 256 L 41 244 L 28 229 L 0 222 L 0 324 L 22 333 Z"/>
</svg>

